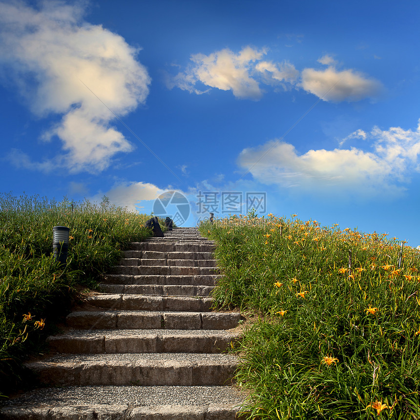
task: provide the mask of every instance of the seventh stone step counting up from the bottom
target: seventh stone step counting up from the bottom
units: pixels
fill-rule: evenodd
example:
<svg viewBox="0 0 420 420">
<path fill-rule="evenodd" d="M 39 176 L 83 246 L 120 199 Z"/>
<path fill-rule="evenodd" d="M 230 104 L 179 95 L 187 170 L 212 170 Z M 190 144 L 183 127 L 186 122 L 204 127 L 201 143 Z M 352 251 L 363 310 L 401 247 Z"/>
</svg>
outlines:
<svg viewBox="0 0 420 420">
<path fill-rule="evenodd" d="M 198 275 L 133 275 L 133 274 L 104 274 L 103 283 L 106 284 L 156 284 L 156 285 L 189 285 L 214 286 L 222 274 Z"/>
</svg>

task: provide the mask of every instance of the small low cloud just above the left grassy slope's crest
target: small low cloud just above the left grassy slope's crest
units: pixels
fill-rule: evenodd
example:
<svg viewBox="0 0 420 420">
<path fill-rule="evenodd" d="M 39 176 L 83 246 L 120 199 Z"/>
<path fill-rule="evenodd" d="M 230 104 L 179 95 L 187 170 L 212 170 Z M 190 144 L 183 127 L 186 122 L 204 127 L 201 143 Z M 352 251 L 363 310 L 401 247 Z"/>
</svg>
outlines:
<svg viewBox="0 0 420 420">
<path fill-rule="evenodd" d="M 142 212 L 140 202 L 145 200 L 155 200 L 165 190 L 146 182 L 123 182 L 114 185 L 108 191 L 99 191 L 91 197 L 92 201 L 100 203 L 102 197 L 106 195 L 110 204 L 126 207 L 130 211 Z"/>
</svg>

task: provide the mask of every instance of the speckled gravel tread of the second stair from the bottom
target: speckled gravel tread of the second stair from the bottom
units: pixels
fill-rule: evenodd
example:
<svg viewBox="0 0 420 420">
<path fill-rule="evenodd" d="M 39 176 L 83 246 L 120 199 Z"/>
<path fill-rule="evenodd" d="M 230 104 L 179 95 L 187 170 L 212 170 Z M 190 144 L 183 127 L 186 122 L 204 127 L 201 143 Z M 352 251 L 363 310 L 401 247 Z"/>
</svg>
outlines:
<svg viewBox="0 0 420 420">
<path fill-rule="evenodd" d="M 56 355 L 43 359 L 44 363 L 86 363 L 86 362 L 111 362 L 118 361 L 123 363 L 130 363 L 139 360 L 159 360 L 163 362 L 164 360 L 172 361 L 183 361 L 189 363 L 198 363 L 198 362 L 226 362 L 226 363 L 235 363 L 237 358 L 233 355 L 227 354 L 211 354 L 211 353 L 125 353 L 125 354 L 100 354 L 100 355 Z"/>
</svg>

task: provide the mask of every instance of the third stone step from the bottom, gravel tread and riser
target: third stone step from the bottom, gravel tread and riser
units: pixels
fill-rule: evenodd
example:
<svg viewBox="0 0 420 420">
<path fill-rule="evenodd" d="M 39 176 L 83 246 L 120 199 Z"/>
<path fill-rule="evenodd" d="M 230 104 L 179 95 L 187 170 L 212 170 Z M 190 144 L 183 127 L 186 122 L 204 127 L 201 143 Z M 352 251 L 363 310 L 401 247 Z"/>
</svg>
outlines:
<svg viewBox="0 0 420 420">
<path fill-rule="evenodd" d="M 240 338 L 217 330 L 72 330 L 49 336 L 57 353 L 221 353 Z"/>
</svg>

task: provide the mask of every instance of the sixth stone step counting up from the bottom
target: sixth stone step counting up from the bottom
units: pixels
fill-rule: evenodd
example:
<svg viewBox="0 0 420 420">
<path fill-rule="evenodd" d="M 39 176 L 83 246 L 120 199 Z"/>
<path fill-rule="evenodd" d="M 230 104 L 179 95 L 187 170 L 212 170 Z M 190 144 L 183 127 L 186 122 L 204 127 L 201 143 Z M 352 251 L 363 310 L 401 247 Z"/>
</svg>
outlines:
<svg viewBox="0 0 420 420">
<path fill-rule="evenodd" d="M 161 296 L 209 296 L 214 286 L 156 285 L 156 284 L 104 284 L 99 285 L 107 294 L 150 294 Z"/>
</svg>

